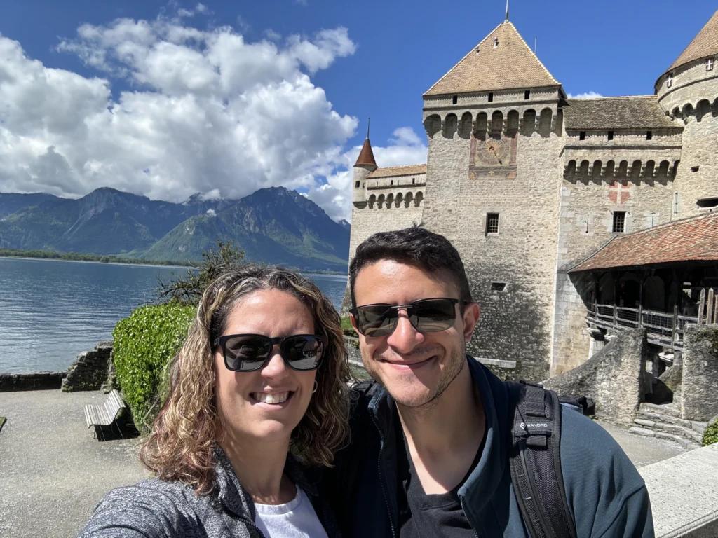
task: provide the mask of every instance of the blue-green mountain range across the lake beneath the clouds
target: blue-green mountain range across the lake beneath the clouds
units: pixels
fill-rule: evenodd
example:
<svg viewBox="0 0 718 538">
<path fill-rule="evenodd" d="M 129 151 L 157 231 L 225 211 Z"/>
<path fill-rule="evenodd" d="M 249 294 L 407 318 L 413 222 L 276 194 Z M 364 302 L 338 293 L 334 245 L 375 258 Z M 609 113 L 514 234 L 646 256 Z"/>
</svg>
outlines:
<svg viewBox="0 0 718 538">
<path fill-rule="evenodd" d="M 349 234 L 348 222 L 284 187 L 238 200 L 194 194 L 180 204 L 109 187 L 80 199 L 0 193 L 0 248 L 178 262 L 233 240 L 246 260 L 345 271 Z"/>
</svg>

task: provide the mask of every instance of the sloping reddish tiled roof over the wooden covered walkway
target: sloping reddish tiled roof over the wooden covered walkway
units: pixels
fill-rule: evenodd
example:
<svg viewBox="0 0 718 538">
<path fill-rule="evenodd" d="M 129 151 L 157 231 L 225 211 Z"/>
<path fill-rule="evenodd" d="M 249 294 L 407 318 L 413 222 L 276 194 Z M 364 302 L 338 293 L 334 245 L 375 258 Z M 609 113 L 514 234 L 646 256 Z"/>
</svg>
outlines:
<svg viewBox="0 0 718 538">
<path fill-rule="evenodd" d="M 718 261 L 718 213 L 617 236 L 569 273 L 699 260 Z"/>
</svg>

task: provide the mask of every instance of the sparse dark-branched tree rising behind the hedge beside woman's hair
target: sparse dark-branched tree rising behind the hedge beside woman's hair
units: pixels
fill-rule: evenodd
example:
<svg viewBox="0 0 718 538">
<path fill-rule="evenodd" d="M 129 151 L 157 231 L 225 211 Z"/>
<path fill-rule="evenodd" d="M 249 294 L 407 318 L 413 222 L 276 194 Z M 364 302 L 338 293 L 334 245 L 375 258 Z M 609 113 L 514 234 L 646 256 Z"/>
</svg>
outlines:
<svg viewBox="0 0 718 538">
<path fill-rule="evenodd" d="M 202 262 L 192 265 L 195 270 L 187 270 L 184 276 L 170 280 L 159 280 L 160 303 L 172 303 L 182 306 L 197 306 L 205 288 L 223 273 L 241 268 L 244 265 L 244 250 L 239 250 L 233 241 L 217 240 L 216 247 L 202 253 Z"/>
</svg>

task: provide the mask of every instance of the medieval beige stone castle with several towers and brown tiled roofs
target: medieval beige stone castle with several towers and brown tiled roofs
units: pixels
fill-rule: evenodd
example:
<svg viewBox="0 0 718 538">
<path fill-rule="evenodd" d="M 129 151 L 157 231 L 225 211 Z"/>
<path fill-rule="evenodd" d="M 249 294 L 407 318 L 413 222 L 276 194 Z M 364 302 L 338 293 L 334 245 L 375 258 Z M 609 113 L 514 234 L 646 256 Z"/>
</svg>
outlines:
<svg viewBox="0 0 718 538">
<path fill-rule="evenodd" d="M 365 141 L 350 258 L 422 223 L 466 265 L 470 353 L 533 380 L 582 364 L 585 290 L 568 270 L 612 237 L 718 207 L 716 60 L 718 11 L 655 95 L 569 99 L 507 16 L 424 93 L 426 164 L 379 168 Z"/>
</svg>

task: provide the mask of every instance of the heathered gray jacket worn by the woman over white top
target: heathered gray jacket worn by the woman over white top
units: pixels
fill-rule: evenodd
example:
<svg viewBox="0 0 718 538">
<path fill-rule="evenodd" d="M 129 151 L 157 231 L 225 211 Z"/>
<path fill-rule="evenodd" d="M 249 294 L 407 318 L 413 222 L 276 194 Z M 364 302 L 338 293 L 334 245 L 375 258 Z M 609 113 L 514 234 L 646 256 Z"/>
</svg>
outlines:
<svg viewBox="0 0 718 538">
<path fill-rule="evenodd" d="M 254 524 L 251 496 L 237 480 L 221 448 L 215 449 L 214 491 L 197 496 L 186 484 L 157 478 L 110 491 L 95 507 L 78 538 L 265 538 Z M 316 479 L 291 455 L 284 472 L 302 488 L 329 538 L 340 533 Z"/>
</svg>

